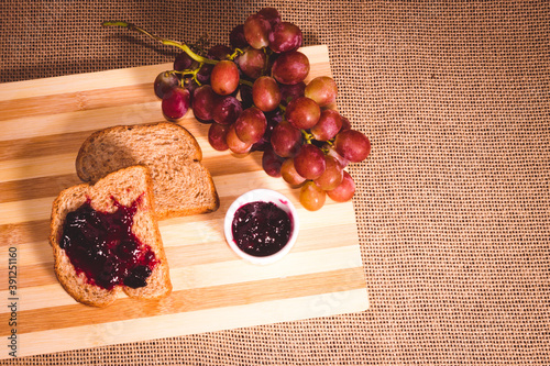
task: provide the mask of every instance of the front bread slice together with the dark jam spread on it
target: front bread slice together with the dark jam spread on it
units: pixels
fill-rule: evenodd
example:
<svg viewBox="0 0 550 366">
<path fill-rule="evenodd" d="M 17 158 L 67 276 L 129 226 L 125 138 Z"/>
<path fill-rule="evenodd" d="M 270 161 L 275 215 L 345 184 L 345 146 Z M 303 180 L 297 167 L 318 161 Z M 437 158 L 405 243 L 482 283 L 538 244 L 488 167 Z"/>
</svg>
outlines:
<svg viewBox="0 0 550 366">
<path fill-rule="evenodd" d="M 151 176 L 144 166 L 123 168 L 99 179 L 94 186 L 81 184 L 58 195 L 52 209 L 50 244 L 54 252 L 55 274 L 73 298 L 88 306 L 106 307 L 121 291 L 138 299 L 160 299 L 170 293 L 169 268 L 152 209 L 153 199 Z M 84 209 L 88 215 L 75 213 L 84 212 Z M 68 229 L 69 225 L 85 229 L 78 229 L 75 234 L 70 230 L 76 229 Z M 99 229 L 95 231 L 91 226 Z M 125 234 L 113 234 L 122 229 L 127 230 Z M 88 237 L 88 241 L 81 237 Z M 129 237 L 133 240 L 130 244 L 127 243 Z M 136 269 L 139 266 L 141 268 Z M 148 269 L 143 268 L 147 266 Z M 87 271 L 89 268 L 94 271 Z M 140 270 L 145 275 L 139 275 Z M 90 278 L 98 273 L 99 279 Z M 122 276 L 114 278 L 113 274 L 124 274 L 124 279 L 120 278 Z M 142 282 L 135 285 L 135 278 L 128 282 L 132 276 L 138 276 L 135 278 Z M 100 280 L 110 280 L 110 286 L 98 285 L 103 284 Z"/>
</svg>

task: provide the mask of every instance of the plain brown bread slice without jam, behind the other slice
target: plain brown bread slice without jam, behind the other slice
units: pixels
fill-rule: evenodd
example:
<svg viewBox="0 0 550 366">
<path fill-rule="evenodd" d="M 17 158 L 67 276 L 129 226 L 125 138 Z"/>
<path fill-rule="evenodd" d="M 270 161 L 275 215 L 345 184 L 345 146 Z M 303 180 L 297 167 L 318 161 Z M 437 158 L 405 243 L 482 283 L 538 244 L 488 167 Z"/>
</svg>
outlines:
<svg viewBox="0 0 550 366">
<path fill-rule="evenodd" d="M 158 220 L 216 211 L 219 197 L 202 165 L 195 137 L 172 122 L 119 125 L 94 133 L 80 147 L 76 170 L 95 182 L 132 165 L 145 165 L 153 178 Z"/>
</svg>

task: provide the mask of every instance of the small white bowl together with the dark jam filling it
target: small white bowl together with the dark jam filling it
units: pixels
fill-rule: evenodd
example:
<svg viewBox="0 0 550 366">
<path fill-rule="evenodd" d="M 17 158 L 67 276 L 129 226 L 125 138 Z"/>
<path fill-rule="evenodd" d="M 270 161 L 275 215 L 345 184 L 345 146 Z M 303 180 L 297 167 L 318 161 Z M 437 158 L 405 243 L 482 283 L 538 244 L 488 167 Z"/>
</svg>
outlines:
<svg viewBox="0 0 550 366">
<path fill-rule="evenodd" d="M 296 242 L 298 230 L 293 203 L 270 189 L 242 195 L 226 214 L 229 246 L 253 264 L 270 264 L 285 256 Z"/>
</svg>

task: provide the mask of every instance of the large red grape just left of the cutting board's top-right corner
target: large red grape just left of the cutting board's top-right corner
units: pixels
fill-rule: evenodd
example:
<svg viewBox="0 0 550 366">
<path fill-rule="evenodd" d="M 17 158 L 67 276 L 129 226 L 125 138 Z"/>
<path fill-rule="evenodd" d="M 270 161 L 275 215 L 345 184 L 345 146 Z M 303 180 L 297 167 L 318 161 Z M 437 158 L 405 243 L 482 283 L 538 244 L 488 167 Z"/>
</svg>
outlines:
<svg viewBox="0 0 550 366">
<path fill-rule="evenodd" d="M 280 54 L 272 66 L 272 75 L 280 84 L 298 84 L 309 74 L 309 59 L 299 51 Z"/>
</svg>

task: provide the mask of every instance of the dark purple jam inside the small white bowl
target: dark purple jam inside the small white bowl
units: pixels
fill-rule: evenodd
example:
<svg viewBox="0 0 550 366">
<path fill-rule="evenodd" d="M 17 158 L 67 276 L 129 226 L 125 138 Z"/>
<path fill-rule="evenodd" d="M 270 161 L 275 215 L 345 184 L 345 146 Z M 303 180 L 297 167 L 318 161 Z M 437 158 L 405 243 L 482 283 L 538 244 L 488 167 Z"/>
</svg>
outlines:
<svg viewBox="0 0 550 366">
<path fill-rule="evenodd" d="M 250 202 L 237 210 L 233 240 L 246 254 L 264 257 L 280 251 L 290 239 L 292 218 L 273 202 Z"/>
</svg>

